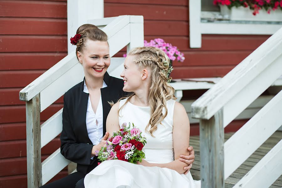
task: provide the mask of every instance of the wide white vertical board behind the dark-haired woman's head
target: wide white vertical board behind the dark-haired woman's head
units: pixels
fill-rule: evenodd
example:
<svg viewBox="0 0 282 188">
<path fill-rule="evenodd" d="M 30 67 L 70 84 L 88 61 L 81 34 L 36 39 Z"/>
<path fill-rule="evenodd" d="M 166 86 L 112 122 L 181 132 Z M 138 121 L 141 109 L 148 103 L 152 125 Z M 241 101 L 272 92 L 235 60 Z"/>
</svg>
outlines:
<svg viewBox="0 0 282 188">
<path fill-rule="evenodd" d="M 68 54 L 72 53 L 76 46 L 70 44 L 70 37 L 76 34 L 76 30 L 82 24 L 87 24 L 89 19 L 104 18 L 104 0 L 71 0 L 67 1 L 68 18 Z"/>
</svg>

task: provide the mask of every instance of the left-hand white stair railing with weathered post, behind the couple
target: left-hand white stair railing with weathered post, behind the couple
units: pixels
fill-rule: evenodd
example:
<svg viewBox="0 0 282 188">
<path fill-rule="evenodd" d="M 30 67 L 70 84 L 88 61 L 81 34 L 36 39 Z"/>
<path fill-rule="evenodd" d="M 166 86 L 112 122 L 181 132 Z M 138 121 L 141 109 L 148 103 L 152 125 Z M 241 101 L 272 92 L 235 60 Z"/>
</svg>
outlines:
<svg viewBox="0 0 282 188">
<path fill-rule="evenodd" d="M 125 46 L 130 50 L 144 45 L 143 16 L 124 15 L 88 20 L 88 23 L 97 25 L 108 35 L 111 57 Z M 111 58 L 108 69 L 111 76 L 119 77 L 123 60 Z M 62 109 L 41 126 L 40 112 L 81 82 L 83 77 L 83 68 L 74 51 L 19 92 L 20 100 L 26 101 L 28 187 L 44 185 L 70 163 L 60 154 L 60 148 L 41 163 L 41 148 L 62 131 Z"/>
</svg>

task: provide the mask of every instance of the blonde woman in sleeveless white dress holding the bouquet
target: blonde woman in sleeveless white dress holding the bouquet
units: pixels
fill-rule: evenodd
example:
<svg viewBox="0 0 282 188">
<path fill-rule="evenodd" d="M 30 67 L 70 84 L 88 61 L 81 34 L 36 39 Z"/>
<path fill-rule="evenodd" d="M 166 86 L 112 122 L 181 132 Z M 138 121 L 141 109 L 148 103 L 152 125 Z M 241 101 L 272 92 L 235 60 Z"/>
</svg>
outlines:
<svg viewBox="0 0 282 188">
<path fill-rule="evenodd" d="M 146 159 L 137 165 L 104 161 L 86 175 L 86 188 L 200 187 L 190 172 L 184 174 L 186 164 L 180 158 L 189 155 L 190 123 L 168 84 L 169 61 L 165 52 L 155 47 L 138 47 L 128 53 L 121 77 L 123 91 L 133 94 L 113 105 L 106 127 L 111 134 L 123 123 L 134 123 L 147 138 Z"/>
</svg>

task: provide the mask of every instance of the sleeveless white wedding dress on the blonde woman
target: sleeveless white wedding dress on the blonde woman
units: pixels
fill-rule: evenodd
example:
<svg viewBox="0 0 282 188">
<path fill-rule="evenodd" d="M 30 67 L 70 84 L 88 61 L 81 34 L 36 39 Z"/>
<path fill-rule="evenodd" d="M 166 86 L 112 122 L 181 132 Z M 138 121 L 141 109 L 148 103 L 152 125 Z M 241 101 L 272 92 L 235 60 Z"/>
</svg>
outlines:
<svg viewBox="0 0 282 188">
<path fill-rule="evenodd" d="M 121 100 L 121 107 L 127 99 Z M 147 138 L 144 146 L 146 161 L 149 163 L 169 163 L 174 160 L 172 128 L 175 100 L 167 101 L 168 114 L 153 133 L 145 132 L 150 119 L 150 107 L 139 107 L 128 102 L 120 111 L 119 125 L 130 122 L 139 128 Z M 165 109 L 163 109 L 165 113 Z M 200 180 L 193 180 L 175 170 L 160 167 L 146 167 L 121 160 L 102 162 L 84 178 L 85 188 L 200 188 Z"/>
</svg>

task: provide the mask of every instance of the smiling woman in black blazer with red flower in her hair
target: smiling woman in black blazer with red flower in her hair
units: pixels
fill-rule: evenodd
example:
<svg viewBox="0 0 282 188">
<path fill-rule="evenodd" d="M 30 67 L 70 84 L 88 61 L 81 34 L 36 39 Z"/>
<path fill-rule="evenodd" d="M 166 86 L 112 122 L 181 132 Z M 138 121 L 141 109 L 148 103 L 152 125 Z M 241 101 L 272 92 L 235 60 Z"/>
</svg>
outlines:
<svg viewBox="0 0 282 188">
<path fill-rule="evenodd" d="M 106 120 L 111 109 L 108 102 L 117 102 L 128 94 L 123 91 L 123 80 L 109 76 L 107 73 L 110 65 L 109 46 L 107 35 L 102 30 L 94 25 L 84 24 L 77 29 L 75 37 L 70 40 L 76 45 L 77 59 L 83 66 L 85 78 L 64 95 L 63 129 L 60 139 L 61 154 L 66 159 L 77 163 L 77 172 L 43 185 L 43 188 L 84 187 L 85 175 L 98 165 L 95 151 L 105 145 L 108 137 Z M 99 108 L 99 101 L 102 101 L 102 108 Z M 92 143 L 87 130 L 89 106 L 92 107 L 91 110 L 93 109 L 94 113 L 102 109 L 102 117 L 100 117 L 102 122 L 98 123 L 96 120 L 95 125 L 95 122 L 90 121 L 93 126 L 102 126 L 102 135 L 105 135 L 96 145 Z M 190 155 L 184 156 L 183 162 L 190 164 L 187 165 L 187 170 L 190 170 L 195 156 L 192 147 L 188 150 Z"/>
</svg>

